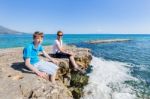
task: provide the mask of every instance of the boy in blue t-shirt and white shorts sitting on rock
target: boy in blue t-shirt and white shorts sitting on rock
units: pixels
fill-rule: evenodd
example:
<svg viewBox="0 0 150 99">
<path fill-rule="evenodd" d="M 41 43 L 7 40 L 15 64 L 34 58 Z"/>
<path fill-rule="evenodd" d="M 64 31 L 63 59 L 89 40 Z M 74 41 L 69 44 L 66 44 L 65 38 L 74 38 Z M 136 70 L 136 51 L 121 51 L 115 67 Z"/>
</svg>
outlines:
<svg viewBox="0 0 150 99">
<path fill-rule="evenodd" d="M 58 66 L 57 61 L 51 58 L 43 49 L 41 43 L 43 41 L 43 32 L 35 32 L 33 34 L 33 42 L 26 46 L 23 50 L 23 59 L 25 65 L 36 73 L 38 76 L 49 79 L 55 83 L 55 77 Z M 38 53 L 42 52 L 52 62 L 39 60 Z M 47 74 L 49 75 L 47 78 Z"/>
</svg>

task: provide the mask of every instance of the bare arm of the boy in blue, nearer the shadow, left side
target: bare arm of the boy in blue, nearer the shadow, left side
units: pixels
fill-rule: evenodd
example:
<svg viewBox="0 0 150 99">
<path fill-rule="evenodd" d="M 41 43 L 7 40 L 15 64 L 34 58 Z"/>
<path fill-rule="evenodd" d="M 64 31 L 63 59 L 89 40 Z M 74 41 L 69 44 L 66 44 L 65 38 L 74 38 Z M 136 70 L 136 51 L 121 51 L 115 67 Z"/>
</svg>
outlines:
<svg viewBox="0 0 150 99">
<path fill-rule="evenodd" d="M 38 76 L 45 78 L 46 77 L 46 73 L 44 72 L 40 72 L 38 69 L 34 68 L 34 66 L 32 64 L 30 64 L 30 58 L 27 58 L 25 60 L 25 65 L 32 70 L 34 73 L 36 73 Z"/>
</svg>

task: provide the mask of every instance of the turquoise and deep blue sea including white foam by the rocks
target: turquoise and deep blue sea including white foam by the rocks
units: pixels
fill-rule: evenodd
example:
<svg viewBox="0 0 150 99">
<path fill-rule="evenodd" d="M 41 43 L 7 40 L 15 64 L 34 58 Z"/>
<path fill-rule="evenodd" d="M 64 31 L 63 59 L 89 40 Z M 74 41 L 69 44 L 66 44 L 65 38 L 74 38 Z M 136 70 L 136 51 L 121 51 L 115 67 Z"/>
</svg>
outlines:
<svg viewBox="0 0 150 99">
<path fill-rule="evenodd" d="M 43 45 L 56 35 L 46 34 Z M 128 42 L 89 44 L 90 40 L 130 39 Z M 65 34 L 65 44 L 91 49 L 93 71 L 82 99 L 150 99 L 150 35 Z M 0 35 L 0 48 L 23 47 L 32 35 Z"/>
</svg>

